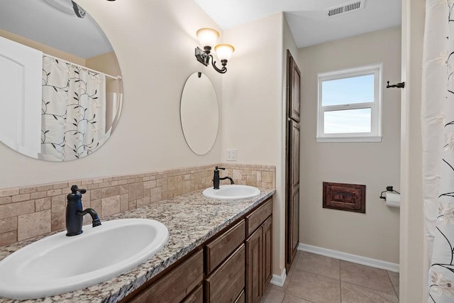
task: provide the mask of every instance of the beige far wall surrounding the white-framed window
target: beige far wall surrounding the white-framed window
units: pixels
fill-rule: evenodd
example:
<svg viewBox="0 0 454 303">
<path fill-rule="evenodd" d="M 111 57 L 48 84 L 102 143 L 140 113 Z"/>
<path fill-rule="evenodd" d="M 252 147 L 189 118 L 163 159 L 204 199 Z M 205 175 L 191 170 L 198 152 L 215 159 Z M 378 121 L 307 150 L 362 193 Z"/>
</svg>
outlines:
<svg viewBox="0 0 454 303">
<path fill-rule="evenodd" d="M 399 263 L 399 209 L 380 199 L 399 191 L 400 91 L 382 88 L 381 143 L 316 143 L 317 73 L 383 63 L 399 81 L 401 29 L 389 28 L 299 49 L 301 70 L 300 242 Z M 366 214 L 322 208 L 322 182 L 366 185 Z"/>
</svg>

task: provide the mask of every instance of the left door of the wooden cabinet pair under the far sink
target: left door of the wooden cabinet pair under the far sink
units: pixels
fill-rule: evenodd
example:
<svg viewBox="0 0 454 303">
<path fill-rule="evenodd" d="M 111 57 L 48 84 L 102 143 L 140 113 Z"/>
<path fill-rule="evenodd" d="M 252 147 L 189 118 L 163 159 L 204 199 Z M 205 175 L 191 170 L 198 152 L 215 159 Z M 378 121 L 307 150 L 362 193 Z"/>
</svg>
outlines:
<svg viewBox="0 0 454 303">
<path fill-rule="evenodd" d="M 246 241 L 247 302 L 260 302 L 262 298 L 262 227 Z"/>
</svg>

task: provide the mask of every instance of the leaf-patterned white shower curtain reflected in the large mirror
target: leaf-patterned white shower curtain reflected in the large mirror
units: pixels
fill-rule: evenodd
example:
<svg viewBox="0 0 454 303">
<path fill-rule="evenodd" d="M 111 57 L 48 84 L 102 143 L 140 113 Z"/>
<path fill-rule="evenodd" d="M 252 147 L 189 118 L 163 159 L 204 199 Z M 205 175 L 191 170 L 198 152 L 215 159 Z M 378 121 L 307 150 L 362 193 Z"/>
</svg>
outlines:
<svg viewBox="0 0 454 303">
<path fill-rule="evenodd" d="M 94 152 L 104 140 L 105 117 L 104 75 L 43 56 L 41 159 L 67 161 Z"/>
</svg>

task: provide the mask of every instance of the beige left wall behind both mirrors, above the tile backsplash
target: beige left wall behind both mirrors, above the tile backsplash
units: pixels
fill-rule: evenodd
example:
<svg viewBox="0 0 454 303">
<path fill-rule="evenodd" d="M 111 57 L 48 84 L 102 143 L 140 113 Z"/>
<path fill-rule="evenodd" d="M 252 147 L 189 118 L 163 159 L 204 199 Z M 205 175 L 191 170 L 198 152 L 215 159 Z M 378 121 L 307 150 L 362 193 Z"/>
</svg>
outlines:
<svg viewBox="0 0 454 303">
<path fill-rule="evenodd" d="M 219 138 L 210 153 L 196 155 L 179 122 L 181 92 L 194 71 L 210 77 L 221 104 L 222 76 L 194 58 L 196 30 L 216 28 L 214 21 L 194 1 L 78 2 L 116 50 L 124 85 L 121 119 L 109 141 L 82 160 L 43 162 L 0 144 L 0 189 L 220 162 Z"/>
</svg>

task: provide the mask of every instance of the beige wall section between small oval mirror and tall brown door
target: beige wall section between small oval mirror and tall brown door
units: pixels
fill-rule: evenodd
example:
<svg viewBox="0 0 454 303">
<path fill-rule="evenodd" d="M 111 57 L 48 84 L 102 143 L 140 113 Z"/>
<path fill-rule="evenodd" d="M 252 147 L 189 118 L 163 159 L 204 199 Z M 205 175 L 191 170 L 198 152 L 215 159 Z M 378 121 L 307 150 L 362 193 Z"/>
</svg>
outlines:
<svg viewBox="0 0 454 303">
<path fill-rule="evenodd" d="M 225 31 L 236 51 L 223 76 L 221 159 L 236 148 L 238 163 L 276 165 L 273 273 L 284 269 L 282 149 L 282 25 L 277 13 Z"/>
</svg>

